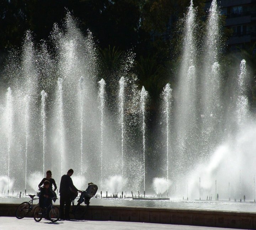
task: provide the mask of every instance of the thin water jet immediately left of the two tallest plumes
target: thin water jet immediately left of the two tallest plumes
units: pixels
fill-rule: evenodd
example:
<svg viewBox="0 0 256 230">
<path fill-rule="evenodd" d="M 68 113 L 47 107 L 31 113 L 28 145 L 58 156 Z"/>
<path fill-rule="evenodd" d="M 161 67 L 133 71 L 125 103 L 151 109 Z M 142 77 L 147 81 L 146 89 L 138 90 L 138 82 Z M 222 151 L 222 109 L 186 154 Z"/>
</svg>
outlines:
<svg viewBox="0 0 256 230">
<path fill-rule="evenodd" d="M 172 100 L 172 89 L 170 84 L 167 83 L 164 91 L 162 92 L 164 97 L 164 117 L 166 123 L 166 180 L 167 180 L 167 195 L 169 193 L 169 123 L 170 123 L 170 112 L 171 112 L 171 100 Z"/>
</svg>

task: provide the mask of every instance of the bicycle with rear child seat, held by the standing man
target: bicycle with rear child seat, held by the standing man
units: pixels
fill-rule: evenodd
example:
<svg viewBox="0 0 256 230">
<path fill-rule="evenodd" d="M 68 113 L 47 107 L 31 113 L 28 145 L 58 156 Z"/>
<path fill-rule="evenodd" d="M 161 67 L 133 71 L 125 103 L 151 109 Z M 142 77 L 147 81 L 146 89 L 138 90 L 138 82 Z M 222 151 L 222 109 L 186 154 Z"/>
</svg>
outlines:
<svg viewBox="0 0 256 230">
<path fill-rule="evenodd" d="M 89 183 L 87 189 L 81 192 L 76 206 L 74 205 L 74 199 L 72 200 L 75 219 L 80 220 L 84 218 L 90 204 L 90 199 L 95 196 L 97 190 L 98 186 L 96 184 Z"/>
</svg>

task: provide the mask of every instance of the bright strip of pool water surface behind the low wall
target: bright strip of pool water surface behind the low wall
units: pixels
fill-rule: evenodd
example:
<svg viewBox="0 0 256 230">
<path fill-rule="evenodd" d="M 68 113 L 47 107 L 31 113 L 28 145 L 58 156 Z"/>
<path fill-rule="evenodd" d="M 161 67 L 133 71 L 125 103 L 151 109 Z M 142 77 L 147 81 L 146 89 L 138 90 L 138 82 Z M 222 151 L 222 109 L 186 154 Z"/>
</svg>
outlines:
<svg viewBox="0 0 256 230">
<path fill-rule="evenodd" d="M 0 203 L 18 204 L 28 201 L 30 198 L 22 197 L 0 197 Z M 194 210 L 218 210 L 237 212 L 256 212 L 254 202 L 229 202 L 229 201 L 199 201 L 199 200 L 132 200 L 132 199 L 110 199 L 92 198 L 90 205 L 117 206 L 117 207 L 150 207 L 150 208 L 170 208 L 170 209 L 194 209 Z M 37 204 L 38 200 L 34 203 Z M 59 204 L 59 199 L 56 201 Z M 76 204 L 76 201 L 75 201 Z"/>
</svg>

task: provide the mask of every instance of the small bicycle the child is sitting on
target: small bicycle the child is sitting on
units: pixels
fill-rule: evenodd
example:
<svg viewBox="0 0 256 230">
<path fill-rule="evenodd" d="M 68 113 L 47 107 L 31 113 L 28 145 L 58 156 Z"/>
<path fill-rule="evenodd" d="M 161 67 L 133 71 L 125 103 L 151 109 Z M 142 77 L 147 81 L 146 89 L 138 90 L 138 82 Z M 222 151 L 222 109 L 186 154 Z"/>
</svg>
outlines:
<svg viewBox="0 0 256 230">
<path fill-rule="evenodd" d="M 60 210 L 57 206 L 53 206 L 53 202 L 57 197 L 53 197 L 48 208 L 40 208 L 39 206 L 34 209 L 34 220 L 39 222 L 43 217 L 49 219 L 52 222 L 56 222 L 60 218 Z M 50 210 L 50 211 L 49 211 Z M 48 213 L 47 213 L 48 212 Z"/>
</svg>

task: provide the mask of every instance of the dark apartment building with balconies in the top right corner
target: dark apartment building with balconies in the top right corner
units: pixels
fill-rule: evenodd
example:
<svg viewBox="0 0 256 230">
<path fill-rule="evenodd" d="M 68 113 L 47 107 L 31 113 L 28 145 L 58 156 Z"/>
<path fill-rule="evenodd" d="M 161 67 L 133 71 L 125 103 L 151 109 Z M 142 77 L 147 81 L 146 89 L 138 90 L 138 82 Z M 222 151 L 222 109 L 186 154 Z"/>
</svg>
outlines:
<svg viewBox="0 0 256 230">
<path fill-rule="evenodd" d="M 206 1 L 209 9 L 211 0 Z M 250 47 L 256 42 L 256 0 L 218 0 L 226 27 L 233 30 L 228 41 L 231 47 Z"/>
</svg>

